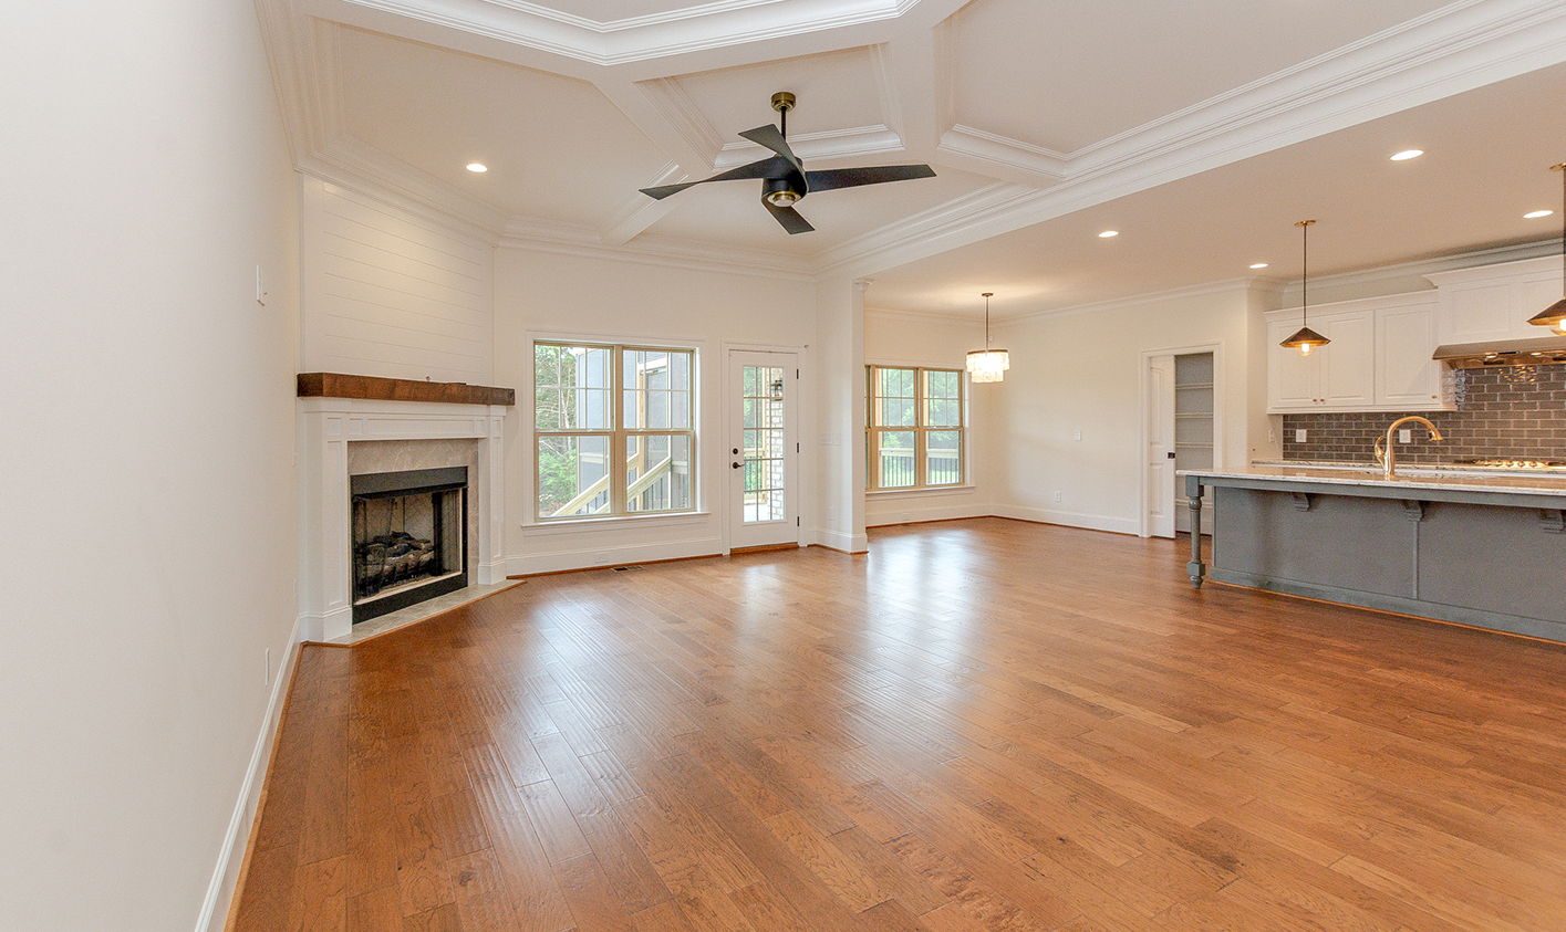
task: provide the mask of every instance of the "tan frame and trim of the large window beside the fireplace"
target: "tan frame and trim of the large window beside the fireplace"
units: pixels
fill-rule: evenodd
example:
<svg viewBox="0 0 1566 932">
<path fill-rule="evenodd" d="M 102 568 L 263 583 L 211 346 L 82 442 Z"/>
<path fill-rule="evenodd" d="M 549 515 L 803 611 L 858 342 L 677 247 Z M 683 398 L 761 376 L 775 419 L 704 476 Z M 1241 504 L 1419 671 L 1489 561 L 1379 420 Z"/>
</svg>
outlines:
<svg viewBox="0 0 1566 932">
<path fill-rule="evenodd" d="M 620 521 L 651 521 L 670 516 L 689 516 L 698 514 L 700 494 L 698 494 L 698 410 L 697 410 L 697 367 L 700 366 L 700 349 L 694 346 L 659 346 L 655 342 L 615 342 L 603 339 L 573 339 L 570 336 L 536 336 L 532 341 L 532 414 L 529 428 L 532 433 L 532 508 L 529 508 L 531 522 L 534 525 L 557 525 L 557 524 L 604 524 L 604 522 L 620 522 Z M 539 428 L 539 347 L 584 347 L 584 349 L 601 349 L 609 350 L 609 385 L 606 391 L 611 399 L 611 418 L 608 428 L 564 428 L 564 430 L 540 430 Z M 689 385 L 684 388 L 687 399 L 687 427 L 625 427 L 625 386 L 623 367 L 626 352 L 669 352 L 669 353 L 687 353 L 691 358 Z M 589 438 L 603 436 L 608 438 L 609 444 L 609 507 L 604 511 L 595 514 L 550 514 L 545 516 L 539 508 L 539 488 L 540 488 L 540 450 L 545 438 L 550 436 L 572 436 L 572 438 Z M 691 491 L 689 504 L 684 508 L 661 508 L 656 511 L 631 511 L 630 500 L 626 496 L 626 460 L 630 449 L 630 438 L 633 436 L 686 436 L 691 444 Z"/>
</svg>

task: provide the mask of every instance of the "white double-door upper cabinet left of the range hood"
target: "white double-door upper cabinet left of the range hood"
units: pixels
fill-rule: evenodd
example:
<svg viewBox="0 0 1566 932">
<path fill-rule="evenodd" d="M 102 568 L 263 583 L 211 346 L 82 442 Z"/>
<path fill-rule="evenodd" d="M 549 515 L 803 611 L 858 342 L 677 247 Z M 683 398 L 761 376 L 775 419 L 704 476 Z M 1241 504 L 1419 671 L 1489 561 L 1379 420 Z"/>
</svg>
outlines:
<svg viewBox="0 0 1566 932">
<path fill-rule="evenodd" d="M 1301 357 L 1278 346 L 1300 328 L 1300 310 L 1267 314 L 1267 411 L 1402 411 L 1450 408 L 1434 342 L 1434 292 L 1320 305 L 1311 328 L 1330 339 Z"/>
</svg>

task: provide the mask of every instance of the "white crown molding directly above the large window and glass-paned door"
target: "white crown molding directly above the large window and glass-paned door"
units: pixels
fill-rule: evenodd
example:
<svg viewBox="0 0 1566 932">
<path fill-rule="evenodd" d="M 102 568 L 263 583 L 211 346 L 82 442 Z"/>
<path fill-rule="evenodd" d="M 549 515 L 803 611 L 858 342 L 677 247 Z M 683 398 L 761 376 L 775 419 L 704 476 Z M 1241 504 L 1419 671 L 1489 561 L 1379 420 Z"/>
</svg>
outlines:
<svg viewBox="0 0 1566 932">
<path fill-rule="evenodd" d="M 631 242 L 611 244 L 600 239 L 594 227 L 561 224 L 528 217 L 512 217 L 501 235 L 501 249 L 526 249 L 554 255 L 604 258 L 645 266 L 667 266 L 700 272 L 814 281 L 810 263 L 774 252 L 692 242 L 661 236 L 637 236 Z"/>
</svg>

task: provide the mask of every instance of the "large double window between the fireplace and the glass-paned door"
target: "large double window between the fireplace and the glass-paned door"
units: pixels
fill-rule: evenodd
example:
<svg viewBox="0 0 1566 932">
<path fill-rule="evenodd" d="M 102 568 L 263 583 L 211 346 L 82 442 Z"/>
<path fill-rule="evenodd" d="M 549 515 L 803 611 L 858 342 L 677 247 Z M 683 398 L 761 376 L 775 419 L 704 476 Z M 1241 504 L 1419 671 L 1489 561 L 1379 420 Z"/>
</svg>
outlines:
<svg viewBox="0 0 1566 932">
<path fill-rule="evenodd" d="M 536 342 L 537 516 L 689 511 L 695 352 Z"/>
</svg>

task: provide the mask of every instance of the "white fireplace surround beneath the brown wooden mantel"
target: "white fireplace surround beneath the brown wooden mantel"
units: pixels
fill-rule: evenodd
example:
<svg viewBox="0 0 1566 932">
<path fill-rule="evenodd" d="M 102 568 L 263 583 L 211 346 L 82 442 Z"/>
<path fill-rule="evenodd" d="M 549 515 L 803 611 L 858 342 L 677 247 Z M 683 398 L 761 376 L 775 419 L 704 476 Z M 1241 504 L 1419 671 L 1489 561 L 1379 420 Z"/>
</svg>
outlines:
<svg viewBox="0 0 1566 932">
<path fill-rule="evenodd" d="M 359 441 L 473 439 L 478 471 L 468 508 L 478 513 L 476 585 L 506 579 L 501 555 L 506 496 L 501 479 L 503 405 L 302 397 L 299 416 L 299 630 L 330 641 L 354 627 L 348 444 Z"/>
</svg>

